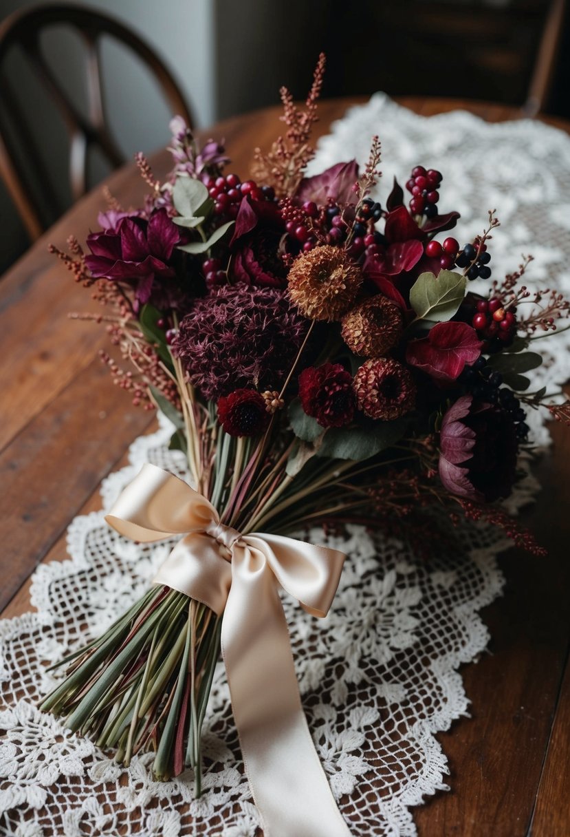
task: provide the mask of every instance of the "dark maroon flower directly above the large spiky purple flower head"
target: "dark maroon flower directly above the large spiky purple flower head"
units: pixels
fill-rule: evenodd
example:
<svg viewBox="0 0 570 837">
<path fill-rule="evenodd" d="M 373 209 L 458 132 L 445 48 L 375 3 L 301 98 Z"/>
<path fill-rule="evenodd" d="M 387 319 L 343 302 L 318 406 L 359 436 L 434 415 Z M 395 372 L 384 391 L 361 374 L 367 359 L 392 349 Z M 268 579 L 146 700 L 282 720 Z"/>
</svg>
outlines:
<svg viewBox="0 0 570 837">
<path fill-rule="evenodd" d="M 265 288 L 284 288 L 287 271 L 278 249 L 285 224 L 277 203 L 243 198 L 230 248 L 232 280 Z"/>
</svg>

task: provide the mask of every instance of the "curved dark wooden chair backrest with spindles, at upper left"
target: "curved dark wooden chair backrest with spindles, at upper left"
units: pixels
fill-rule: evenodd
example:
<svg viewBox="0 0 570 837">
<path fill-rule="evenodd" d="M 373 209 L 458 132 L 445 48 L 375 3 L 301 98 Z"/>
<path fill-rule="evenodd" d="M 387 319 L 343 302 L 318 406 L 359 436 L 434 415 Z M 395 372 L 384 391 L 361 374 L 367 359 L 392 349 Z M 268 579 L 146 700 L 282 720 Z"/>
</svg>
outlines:
<svg viewBox="0 0 570 837">
<path fill-rule="evenodd" d="M 88 110 L 82 114 L 71 96 L 59 83 L 43 54 L 40 38 L 53 26 L 76 30 L 84 46 Z M 38 189 L 49 183 L 47 162 L 38 150 L 37 137 L 29 130 L 19 96 L 3 73 L 5 59 L 13 47 L 19 47 L 38 76 L 50 99 L 63 117 L 69 134 L 69 179 L 74 200 L 88 189 L 88 157 L 98 149 L 112 167 L 119 167 L 125 157 L 109 131 L 104 108 L 100 39 L 110 36 L 132 50 L 150 69 L 173 114 L 181 114 L 189 126 L 191 112 L 169 70 L 150 47 L 115 18 L 90 8 L 74 5 L 45 5 L 28 8 L 6 18 L 0 24 L 0 176 L 23 219 L 32 239 L 38 238 L 48 223 L 64 210 L 53 189 Z M 48 221 L 44 208 L 48 207 Z"/>
</svg>

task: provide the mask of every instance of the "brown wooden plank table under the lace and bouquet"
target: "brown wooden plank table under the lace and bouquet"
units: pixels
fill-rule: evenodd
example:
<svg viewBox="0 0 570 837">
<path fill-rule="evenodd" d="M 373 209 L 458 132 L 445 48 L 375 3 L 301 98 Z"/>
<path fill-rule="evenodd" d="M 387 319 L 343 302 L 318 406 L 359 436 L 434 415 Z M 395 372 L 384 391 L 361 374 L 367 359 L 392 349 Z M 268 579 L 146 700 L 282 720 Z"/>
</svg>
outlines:
<svg viewBox="0 0 570 837">
<path fill-rule="evenodd" d="M 350 104 L 321 106 L 317 134 Z M 484 103 L 402 99 L 430 115 L 462 107 L 489 121 L 517 113 Z M 252 148 L 268 146 L 280 130 L 280 108 L 221 123 L 232 169 L 247 175 Z M 551 120 L 570 131 L 570 125 Z M 207 132 L 210 135 L 210 131 Z M 160 177 L 170 158 L 153 158 Z M 127 166 L 109 177 L 125 205 L 138 205 L 145 184 Z M 3 546 L 0 611 L 29 610 L 29 577 L 42 561 L 63 560 L 69 521 L 99 507 L 99 482 L 118 468 L 137 435 L 154 426 L 134 408 L 96 357 L 103 330 L 71 322 L 69 311 L 89 309 L 89 294 L 53 256 L 72 232 L 97 227 L 100 188 L 81 200 L 29 249 L 0 281 L 0 485 Z M 506 591 L 483 619 L 489 652 L 462 671 L 471 720 L 439 736 L 450 761 L 451 793 L 415 809 L 421 837 L 557 837 L 570 834 L 570 432 L 553 428 L 556 446 L 540 466 L 544 490 L 527 522 L 548 547 L 537 559 L 514 549 L 501 557 Z"/>
</svg>

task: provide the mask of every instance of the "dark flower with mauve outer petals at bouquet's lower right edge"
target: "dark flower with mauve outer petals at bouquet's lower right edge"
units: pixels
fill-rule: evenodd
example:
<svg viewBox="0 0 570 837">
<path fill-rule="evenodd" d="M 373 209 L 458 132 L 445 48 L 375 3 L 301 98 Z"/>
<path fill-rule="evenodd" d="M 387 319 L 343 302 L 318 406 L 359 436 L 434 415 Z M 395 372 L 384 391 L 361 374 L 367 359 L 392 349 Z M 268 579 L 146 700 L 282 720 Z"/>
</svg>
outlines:
<svg viewBox="0 0 570 837">
<path fill-rule="evenodd" d="M 440 430 L 440 480 L 451 494 L 491 503 L 508 497 L 517 470 L 517 436 L 511 416 L 463 395 Z"/>
</svg>

